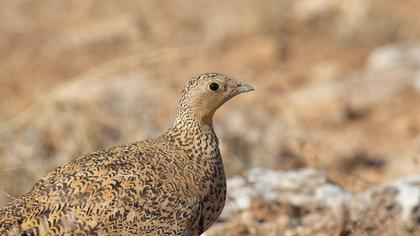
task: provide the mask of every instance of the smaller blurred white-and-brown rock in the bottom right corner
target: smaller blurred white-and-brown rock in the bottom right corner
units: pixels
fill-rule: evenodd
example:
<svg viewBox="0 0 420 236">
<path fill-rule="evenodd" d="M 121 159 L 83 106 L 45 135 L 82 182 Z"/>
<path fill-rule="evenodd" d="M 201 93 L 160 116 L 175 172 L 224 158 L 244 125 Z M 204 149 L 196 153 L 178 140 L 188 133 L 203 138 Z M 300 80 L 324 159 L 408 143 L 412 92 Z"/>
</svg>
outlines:
<svg viewBox="0 0 420 236">
<path fill-rule="evenodd" d="M 350 206 L 354 232 L 377 235 L 420 233 L 420 176 L 408 176 L 374 186 L 355 196 Z"/>
</svg>

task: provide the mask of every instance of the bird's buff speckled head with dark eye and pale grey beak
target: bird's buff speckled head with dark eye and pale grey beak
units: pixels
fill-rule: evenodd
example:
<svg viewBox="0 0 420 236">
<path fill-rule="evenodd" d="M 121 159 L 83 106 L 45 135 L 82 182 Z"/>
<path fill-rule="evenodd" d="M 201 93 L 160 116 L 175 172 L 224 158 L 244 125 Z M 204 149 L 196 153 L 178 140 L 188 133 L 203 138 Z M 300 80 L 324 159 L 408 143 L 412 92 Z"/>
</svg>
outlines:
<svg viewBox="0 0 420 236">
<path fill-rule="evenodd" d="M 214 112 L 232 97 L 254 90 L 249 84 L 226 75 L 206 73 L 190 80 L 179 102 L 179 119 L 194 119 L 211 123 Z"/>
</svg>

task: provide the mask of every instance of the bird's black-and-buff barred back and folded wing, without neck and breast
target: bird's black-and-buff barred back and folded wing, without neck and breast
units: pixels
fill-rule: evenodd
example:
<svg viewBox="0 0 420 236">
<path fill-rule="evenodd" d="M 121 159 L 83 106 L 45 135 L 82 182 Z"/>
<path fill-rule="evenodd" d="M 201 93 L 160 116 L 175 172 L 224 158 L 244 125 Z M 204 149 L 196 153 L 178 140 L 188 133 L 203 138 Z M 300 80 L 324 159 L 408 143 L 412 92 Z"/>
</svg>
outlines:
<svg viewBox="0 0 420 236">
<path fill-rule="evenodd" d="M 0 209 L 0 233 L 192 234 L 200 199 L 187 155 L 156 141 L 58 167 Z"/>
</svg>

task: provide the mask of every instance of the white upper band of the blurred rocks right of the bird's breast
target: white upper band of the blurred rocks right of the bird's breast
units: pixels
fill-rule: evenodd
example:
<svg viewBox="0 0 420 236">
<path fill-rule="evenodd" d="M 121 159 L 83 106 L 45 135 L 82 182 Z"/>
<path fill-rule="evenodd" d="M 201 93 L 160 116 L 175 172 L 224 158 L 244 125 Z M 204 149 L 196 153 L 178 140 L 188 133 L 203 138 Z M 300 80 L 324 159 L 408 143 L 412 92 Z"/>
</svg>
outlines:
<svg viewBox="0 0 420 236">
<path fill-rule="evenodd" d="M 420 206 L 420 176 L 401 178 L 355 195 L 331 183 L 324 172 L 315 169 L 273 171 L 254 168 L 245 176 L 230 178 L 227 184 L 228 198 L 222 218 L 248 210 L 255 198 L 302 207 L 323 206 L 337 219 L 348 210 L 354 221 L 363 220 L 366 211 L 378 214 L 388 211 L 385 209 L 388 205 L 383 205 L 382 199 L 400 206 L 401 221 L 409 223 L 415 219 L 414 209 Z"/>
</svg>

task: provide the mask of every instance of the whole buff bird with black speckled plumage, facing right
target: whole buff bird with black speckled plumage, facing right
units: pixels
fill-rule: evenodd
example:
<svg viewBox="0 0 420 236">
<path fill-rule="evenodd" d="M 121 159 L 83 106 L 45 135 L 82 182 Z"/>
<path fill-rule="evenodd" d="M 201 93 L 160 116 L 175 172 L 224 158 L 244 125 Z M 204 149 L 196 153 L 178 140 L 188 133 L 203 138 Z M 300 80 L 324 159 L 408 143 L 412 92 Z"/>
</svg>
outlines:
<svg viewBox="0 0 420 236">
<path fill-rule="evenodd" d="M 226 200 L 213 115 L 253 90 L 221 73 L 193 77 L 166 132 L 55 168 L 0 208 L 0 235 L 202 234 Z"/>
</svg>

